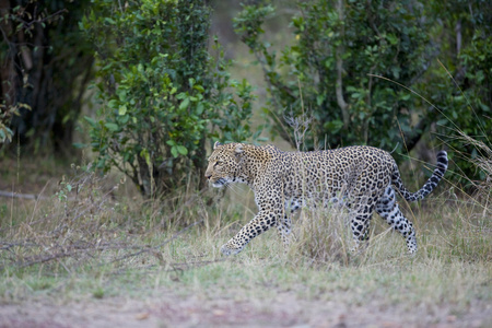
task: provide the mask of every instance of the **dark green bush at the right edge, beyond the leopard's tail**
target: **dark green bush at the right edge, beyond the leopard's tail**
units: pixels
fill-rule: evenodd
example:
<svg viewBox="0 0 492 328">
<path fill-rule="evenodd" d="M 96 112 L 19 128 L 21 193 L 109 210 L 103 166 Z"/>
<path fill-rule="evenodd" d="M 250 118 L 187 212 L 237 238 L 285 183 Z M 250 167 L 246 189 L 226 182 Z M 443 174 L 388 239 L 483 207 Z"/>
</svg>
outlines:
<svg viewBox="0 0 492 328">
<path fill-rule="evenodd" d="M 484 171 L 477 169 L 473 164 L 483 157 L 490 160 L 490 152 L 484 148 L 492 147 L 492 25 L 481 21 L 483 10 L 492 4 L 489 1 L 477 1 L 471 13 L 461 16 L 461 24 L 469 24 L 472 31 L 467 43 L 457 54 L 446 58 L 444 65 L 453 69 L 453 81 L 443 68 L 435 69 L 432 101 L 437 103 L 443 115 L 437 120 L 437 132 L 443 136 L 449 149 L 455 152 L 457 173 L 460 181 L 475 185 L 472 180 L 485 180 Z M 468 12 L 468 9 L 465 11 Z M 487 12 L 487 10 L 484 10 Z M 476 142 L 469 142 L 469 138 Z M 471 161 L 470 161 L 471 160 Z M 470 181 L 471 179 L 471 181 Z"/>
</svg>

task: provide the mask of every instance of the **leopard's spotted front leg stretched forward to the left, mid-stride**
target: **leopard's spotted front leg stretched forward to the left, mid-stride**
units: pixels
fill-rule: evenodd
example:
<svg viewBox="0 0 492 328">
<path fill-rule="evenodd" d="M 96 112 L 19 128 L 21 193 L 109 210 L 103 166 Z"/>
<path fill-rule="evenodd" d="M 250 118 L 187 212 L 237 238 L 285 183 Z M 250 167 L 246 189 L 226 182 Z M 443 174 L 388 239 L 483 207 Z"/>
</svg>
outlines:
<svg viewBox="0 0 492 328">
<path fill-rule="evenodd" d="M 259 211 L 233 238 L 222 245 L 222 254 L 229 256 L 239 253 L 254 237 L 276 225 L 280 216 L 280 211 Z"/>
</svg>

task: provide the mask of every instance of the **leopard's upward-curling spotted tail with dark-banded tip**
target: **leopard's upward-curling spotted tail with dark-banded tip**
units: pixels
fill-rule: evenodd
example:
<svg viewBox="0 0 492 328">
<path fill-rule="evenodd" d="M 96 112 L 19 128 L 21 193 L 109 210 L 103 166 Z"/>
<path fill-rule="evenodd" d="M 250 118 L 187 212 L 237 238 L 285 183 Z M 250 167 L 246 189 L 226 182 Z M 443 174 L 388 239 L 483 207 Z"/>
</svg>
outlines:
<svg viewBox="0 0 492 328">
<path fill-rule="evenodd" d="M 391 176 L 391 184 L 396 187 L 396 189 L 400 192 L 400 195 L 408 201 L 417 201 L 424 199 L 429 194 L 434 190 L 437 186 L 438 181 L 443 178 L 444 174 L 447 171 L 447 153 L 445 151 L 440 151 L 437 153 L 437 164 L 432 173 L 432 176 L 427 179 L 427 181 L 420 188 L 417 192 L 410 192 L 405 188 L 403 183 L 401 181 L 400 173 L 398 171 L 398 166 L 395 163 L 395 169 Z"/>
</svg>

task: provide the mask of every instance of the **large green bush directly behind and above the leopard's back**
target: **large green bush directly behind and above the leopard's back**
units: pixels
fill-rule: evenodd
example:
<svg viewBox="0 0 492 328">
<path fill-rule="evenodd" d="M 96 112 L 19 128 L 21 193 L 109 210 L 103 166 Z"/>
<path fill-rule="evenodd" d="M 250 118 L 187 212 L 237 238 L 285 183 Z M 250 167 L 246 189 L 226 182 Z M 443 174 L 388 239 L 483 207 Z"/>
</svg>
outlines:
<svg viewBox="0 0 492 328">
<path fill-rule="evenodd" d="M 235 20 L 237 33 L 263 68 L 274 130 L 293 140 L 281 127 L 282 117 L 309 112 L 314 120 L 307 149 L 364 143 L 391 150 L 403 144 L 401 132 L 411 148 L 408 143 L 421 133 L 413 126 L 425 110 L 410 110 L 418 98 L 372 74 L 408 87 L 419 82 L 430 51 L 422 5 L 298 1 L 297 7 L 291 20 L 294 40 L 281 54 L 261 36 L 273 7 L 246 5 Z"/>
</svg>

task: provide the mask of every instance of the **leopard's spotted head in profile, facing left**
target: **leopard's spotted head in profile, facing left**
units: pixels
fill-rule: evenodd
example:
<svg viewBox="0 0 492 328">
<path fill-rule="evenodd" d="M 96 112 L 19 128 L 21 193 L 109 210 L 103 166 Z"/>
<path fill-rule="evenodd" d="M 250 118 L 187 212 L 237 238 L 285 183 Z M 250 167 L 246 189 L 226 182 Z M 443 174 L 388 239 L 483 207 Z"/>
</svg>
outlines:
<svg viewBox="0 0 492 328">
<path fill-rule="evenodd" d="M 215 188 L 223 187 L 231 183 L 244 183 L 243 154 L 244 144 L 215 142 L 213 152 L 209 157 L 206 177 Z"/>
</svg>

